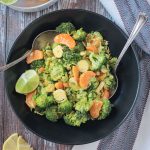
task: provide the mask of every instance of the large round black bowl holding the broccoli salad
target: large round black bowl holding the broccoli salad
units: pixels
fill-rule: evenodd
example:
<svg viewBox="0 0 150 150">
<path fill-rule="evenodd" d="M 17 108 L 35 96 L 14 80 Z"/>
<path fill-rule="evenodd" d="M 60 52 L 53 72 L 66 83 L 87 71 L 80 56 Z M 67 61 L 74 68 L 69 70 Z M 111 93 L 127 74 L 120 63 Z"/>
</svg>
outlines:
<svg viewBox="0 0 150 150">
<path fill-rule="evenodd" d="M 77 28 L 83 27 L 86 31 L 100 31 L 109 41 L 113 56 L 119 55 L 126 42 L 126 36 L 120 28 L 99 14 L 86 10 L 60 10 L 48 13 L 26 27 L 13 44 L 7 63 L 30 49 L 33 39 L 39 33 L 55 29 L 64 21 L 70 21 Z M 81 127 L 71 127 L 63 120 L 52 123 L 45 117 L 32 113 L 25 104 L 25 96 L 15 92 L 16 81 L 26 69 L 28 66 L 25 61 L 22 61 L 5 72 L 5 85 L 10 104 L 28 129 L 44 139 L 63 144 L 94 142 L 112 133 L 131 112 L 140 84 L 137 54 L 130 47 L 117 71 L 119 87 L 115 96 L 111 98 L 114 107 L 110 116 L 102 121 L 89 121 Z"/>
</svg>

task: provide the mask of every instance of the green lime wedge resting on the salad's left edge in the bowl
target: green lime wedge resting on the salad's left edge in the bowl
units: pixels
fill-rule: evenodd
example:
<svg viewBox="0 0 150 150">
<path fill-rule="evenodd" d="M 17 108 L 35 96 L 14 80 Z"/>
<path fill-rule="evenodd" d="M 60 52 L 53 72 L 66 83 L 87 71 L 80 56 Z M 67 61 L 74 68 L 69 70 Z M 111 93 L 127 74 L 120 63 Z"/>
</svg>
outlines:
<svg viewBox="0 0 150 150">
<path fill-rule="evenodd" d="M 16 92 L 27 94 L 37 88 L 39 84 L 39 76 L 35 70 L 27 70 L 23 73 L 16 83 Z"/>
</svg>

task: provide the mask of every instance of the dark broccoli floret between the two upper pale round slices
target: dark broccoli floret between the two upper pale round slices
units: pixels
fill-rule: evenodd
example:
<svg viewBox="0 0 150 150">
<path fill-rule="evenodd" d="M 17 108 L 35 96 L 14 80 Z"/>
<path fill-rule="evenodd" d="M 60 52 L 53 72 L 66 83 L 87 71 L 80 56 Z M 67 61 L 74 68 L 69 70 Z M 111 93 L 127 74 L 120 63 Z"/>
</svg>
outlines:
<svg viewBox="0 0 150 150">
<path fill-rule="evenodd" d="M 64 61 L 64 66 L 66 68 L 76 65 L 78 61 L 81 60 L 81 56 L 79 53 L 75 53 L 72 51 L 65 51 L 63 52 L 63 61 Z"/>
</svg>

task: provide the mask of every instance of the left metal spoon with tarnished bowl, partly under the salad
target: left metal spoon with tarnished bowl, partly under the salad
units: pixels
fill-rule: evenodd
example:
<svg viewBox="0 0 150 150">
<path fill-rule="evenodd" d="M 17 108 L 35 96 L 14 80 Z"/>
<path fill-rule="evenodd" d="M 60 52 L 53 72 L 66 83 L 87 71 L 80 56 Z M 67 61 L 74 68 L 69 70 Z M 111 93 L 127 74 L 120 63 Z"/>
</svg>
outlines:
<svg viewBox="0 0 150 150">
<path fill-rule="evenodd" d="M 43 47 L 45 47 L 47 45 L 47 43 L 52 43 L 54 37 L 57 34 L 58 33 L 55 30 L 47 30 L 47 31 L 44 31 L 44 32 L 40 33 L 34 39 L 34 41 L 32 43 L 31 50 L 28 50 L 22 57 L 16 59 L 15 61 L 13 61 L 13 62 L 11 62 L 11 63 L 9 63 L 7 65 L 4 65 L 4 66 L 0 67 L 0 72 L 9 69 L 12 66 L 14 66 L 14 65 L 18 64 L 19 62 L 21 62 L 22 60 L 24 60 L 32 52 L 32 50 L 42 49 Z"/>
</svg>

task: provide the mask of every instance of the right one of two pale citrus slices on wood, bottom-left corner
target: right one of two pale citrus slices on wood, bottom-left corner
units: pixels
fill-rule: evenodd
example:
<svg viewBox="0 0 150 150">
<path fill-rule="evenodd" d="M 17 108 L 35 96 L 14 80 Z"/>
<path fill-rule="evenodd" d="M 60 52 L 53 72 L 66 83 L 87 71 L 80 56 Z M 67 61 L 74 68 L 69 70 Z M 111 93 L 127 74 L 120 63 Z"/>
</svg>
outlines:
<svg viewBox="0 0 150 150">
<path fill-rule="evenodd" d="M 17 150 L 33 150 L 33 148 L 22 138 L 22 136 L 19 136 L 17 140 Z"/>
</svg>

